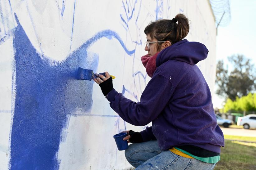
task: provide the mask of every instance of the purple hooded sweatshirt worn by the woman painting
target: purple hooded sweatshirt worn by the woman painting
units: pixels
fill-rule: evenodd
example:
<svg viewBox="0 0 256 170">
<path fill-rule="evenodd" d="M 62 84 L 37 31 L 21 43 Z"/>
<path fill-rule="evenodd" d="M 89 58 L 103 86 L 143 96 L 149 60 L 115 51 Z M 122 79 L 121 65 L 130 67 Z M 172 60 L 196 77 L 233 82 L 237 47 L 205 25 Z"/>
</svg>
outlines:
<svg viewBox="0 0 256 170">
<path fill-rule="evenodd" d="M 173 146 L 195 145 L 220 153 L 224 136 L 216 123 L 210 89 L 197 67 L 208 49 L 186 39 L 162 50 L 157 69 L 134 102 L 113 89 L 106 96 L 111 108 L 126 122 L 145 126 L 144 141 L 157 139 L 161 150 Z"/>
</svg>

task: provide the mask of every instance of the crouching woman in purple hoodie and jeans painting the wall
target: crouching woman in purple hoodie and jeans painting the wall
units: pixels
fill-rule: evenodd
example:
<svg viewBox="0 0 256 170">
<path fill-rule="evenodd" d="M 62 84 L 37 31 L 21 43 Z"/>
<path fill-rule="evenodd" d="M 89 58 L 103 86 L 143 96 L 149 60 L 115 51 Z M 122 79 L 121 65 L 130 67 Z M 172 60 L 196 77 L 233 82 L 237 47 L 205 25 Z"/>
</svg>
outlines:
<svg viewBox="0 0 256 170">
<path fill-rule="evenodd" d="M 140 101 L 127 99 L 113 88 L 108 72 L 96 75 L 111 108 L 126 122 L 145 126 L 126 131 L 133 144 L 125 151 L 136 169 L 213 169 L 220 160 L 224 136 L 216 123 L 211 92 L 197 62 L 208 49 L 184 39 L 189 32 L 186 16 L 156 20 L 144 30 L 147 55 L 141 57 L 152 77 Z M 114 73 L 113 73 L 114 74 Z"/>
</svg>

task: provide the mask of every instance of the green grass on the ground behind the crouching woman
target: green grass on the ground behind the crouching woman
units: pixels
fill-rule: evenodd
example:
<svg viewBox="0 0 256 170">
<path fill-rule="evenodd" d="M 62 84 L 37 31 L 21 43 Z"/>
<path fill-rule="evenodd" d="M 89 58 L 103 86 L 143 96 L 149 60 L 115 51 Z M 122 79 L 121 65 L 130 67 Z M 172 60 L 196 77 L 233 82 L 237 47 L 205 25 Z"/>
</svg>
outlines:
<svg viewBox="0 0 256 170">
<path fill-rule="evenodd" d="M 224 137 L 225 137 L 225 147 L 221 148 L 220 161 L 216 164 L 214 169 L 215 170 L 256 169 L 255 143 L 238 142 L 238 141 L 256 142 L 256 137 L 231 136 L 231 135 L 224 135 Z M 238 140 L 238 141 L 231 141 L 231 140 Z"/>
</svg>

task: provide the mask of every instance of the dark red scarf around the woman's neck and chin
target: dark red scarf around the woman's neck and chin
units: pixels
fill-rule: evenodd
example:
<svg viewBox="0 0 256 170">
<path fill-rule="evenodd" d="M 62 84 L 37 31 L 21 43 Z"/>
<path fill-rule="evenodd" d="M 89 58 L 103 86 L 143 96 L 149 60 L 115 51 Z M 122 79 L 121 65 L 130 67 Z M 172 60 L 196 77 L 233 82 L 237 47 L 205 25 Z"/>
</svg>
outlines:
<svg viewBox="0 0 256 170">
<path fill-rule="evenodd" d="M 147 55 L 141 57 L 142 64 L 146 68 L 146 72 L 149 75 L 149 77 L 152 77 L 156 70 L 155 60 L 156 60 L 158 53 L 156 53 L 154 56 L 149 56 L 147 54 Z"/>
</svg>

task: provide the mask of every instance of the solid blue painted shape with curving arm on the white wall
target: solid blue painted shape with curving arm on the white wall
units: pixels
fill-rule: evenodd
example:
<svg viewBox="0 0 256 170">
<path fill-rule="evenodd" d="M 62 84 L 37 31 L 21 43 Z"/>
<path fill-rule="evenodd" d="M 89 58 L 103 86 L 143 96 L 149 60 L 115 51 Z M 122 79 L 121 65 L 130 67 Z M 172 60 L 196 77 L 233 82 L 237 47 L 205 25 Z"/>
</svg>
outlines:
<svg viewBox="0 0 256 170">
<path fill-rule="evenodd" d="M 96 70 L 98 56 L 87 49 L 98 39 L 121 38 L 111 30 L 97 33 L 64 61 L 49 65 L 31 44 L 17 16 L 14 32 L 16 99 L 11 134 L 11 169 L 59 169 L 57 151 L 68 114 L 86 114 L 92 106 L 93 81 L 76 80 L 78 67 Z M 44 57 L 44 55 L 42 56 Z M 14 90 L 14 89 L 13 89 Z M 83 115 L 81 114 L 81 115 Z M 65 136 L 64 136 L 65 137 Z"/>
</svg>

